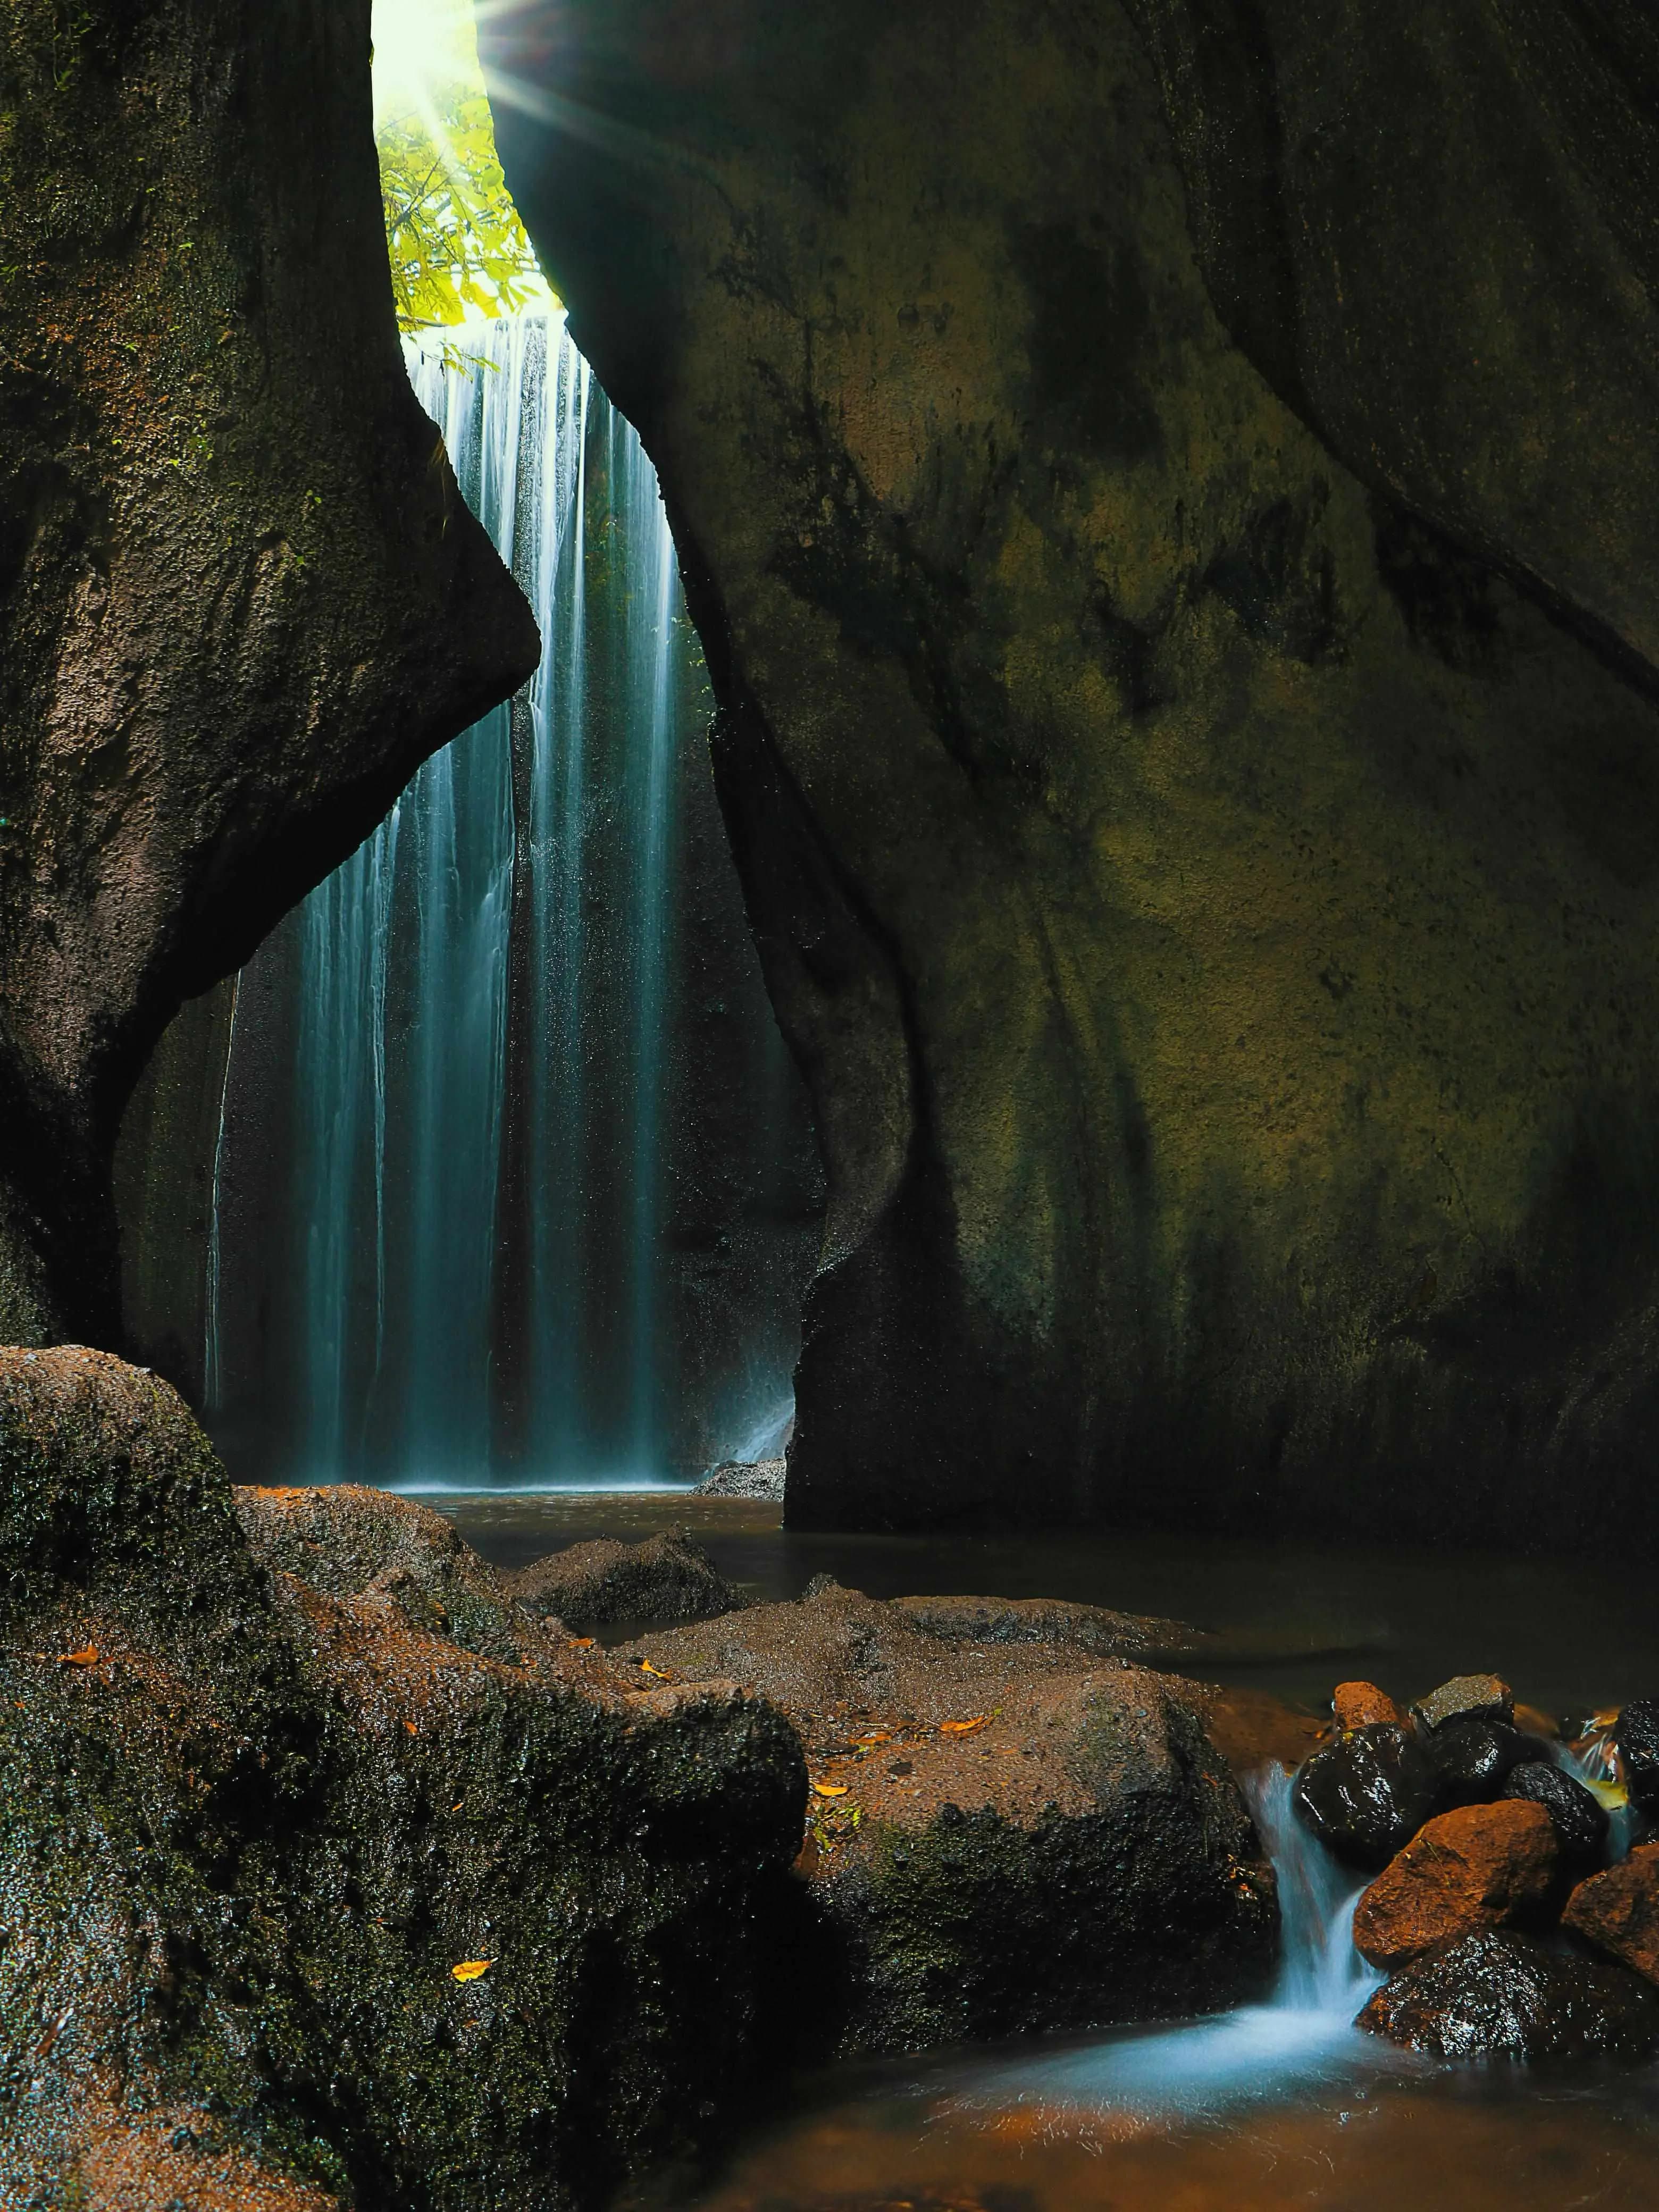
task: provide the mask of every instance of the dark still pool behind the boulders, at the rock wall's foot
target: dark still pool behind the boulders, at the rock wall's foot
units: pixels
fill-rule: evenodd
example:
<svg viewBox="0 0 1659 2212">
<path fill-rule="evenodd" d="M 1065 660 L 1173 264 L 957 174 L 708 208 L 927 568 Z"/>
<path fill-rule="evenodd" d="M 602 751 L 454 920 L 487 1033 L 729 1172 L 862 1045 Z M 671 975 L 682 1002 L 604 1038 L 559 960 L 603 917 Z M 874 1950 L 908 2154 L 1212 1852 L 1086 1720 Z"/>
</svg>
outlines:
<svg viewBox="0 0 1659 2212">
<path fill-rule="evenodd" d="M 469 1544 L 522 1566 L 566 1544 L 639 1542 L 686 1526 L 754 1597 L 799 1597 L 834 1575 L 869 1597 L 1071 1597 L 1190 1621 L 1228 1639 L 1219 1681 L 1325 1705 L 1363 1674 L 1420 1697 L 1491 1670 L 1555 1714 L 1659 1694 L 1659 1604 L 1617 1562 L 1201 1542 L 1170 1535 L 794 1535 L 779 1509 L 684 1491 L 434 1498 Z M 1659 2199 L 1655 2199 L 1659 2212 Z"/>
</svg>

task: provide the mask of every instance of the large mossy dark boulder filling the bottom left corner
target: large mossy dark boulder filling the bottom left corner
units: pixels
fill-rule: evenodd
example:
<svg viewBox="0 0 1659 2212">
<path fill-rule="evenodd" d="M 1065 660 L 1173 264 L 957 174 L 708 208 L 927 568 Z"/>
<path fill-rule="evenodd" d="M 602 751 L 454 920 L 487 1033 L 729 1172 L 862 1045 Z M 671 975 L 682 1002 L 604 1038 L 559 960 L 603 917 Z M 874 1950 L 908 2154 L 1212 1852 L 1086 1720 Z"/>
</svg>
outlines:
<svg viewBox="0 0 1659 2212">
<path fill-rule="evenodd" d="M 708 2146 L 774 2055 L 779 1714 L 268 1566 L 100 1354 L 0 1354 L 0 2197 L 575 2208 Z"/>
</svg>

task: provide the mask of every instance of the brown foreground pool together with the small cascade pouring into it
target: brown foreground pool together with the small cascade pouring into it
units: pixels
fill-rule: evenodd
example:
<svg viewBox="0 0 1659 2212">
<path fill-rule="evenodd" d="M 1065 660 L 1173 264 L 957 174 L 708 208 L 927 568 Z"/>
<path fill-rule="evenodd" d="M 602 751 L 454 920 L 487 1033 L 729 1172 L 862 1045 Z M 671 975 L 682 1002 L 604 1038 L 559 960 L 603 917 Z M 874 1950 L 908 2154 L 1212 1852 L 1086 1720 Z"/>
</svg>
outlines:
<svg viewBox="0 0 1659 2212">
<path fill-rule="evenodd" d="M 701 2212 L 1635 2212 L 1659 2203 L 1659 2070 L 1453 2068 L 1352 2026 L 1376 1986 L 1354 1882 L 1254 1809 L 1279 1869 L 1272 2002 L 821 2081 Z"/>
</svg>

